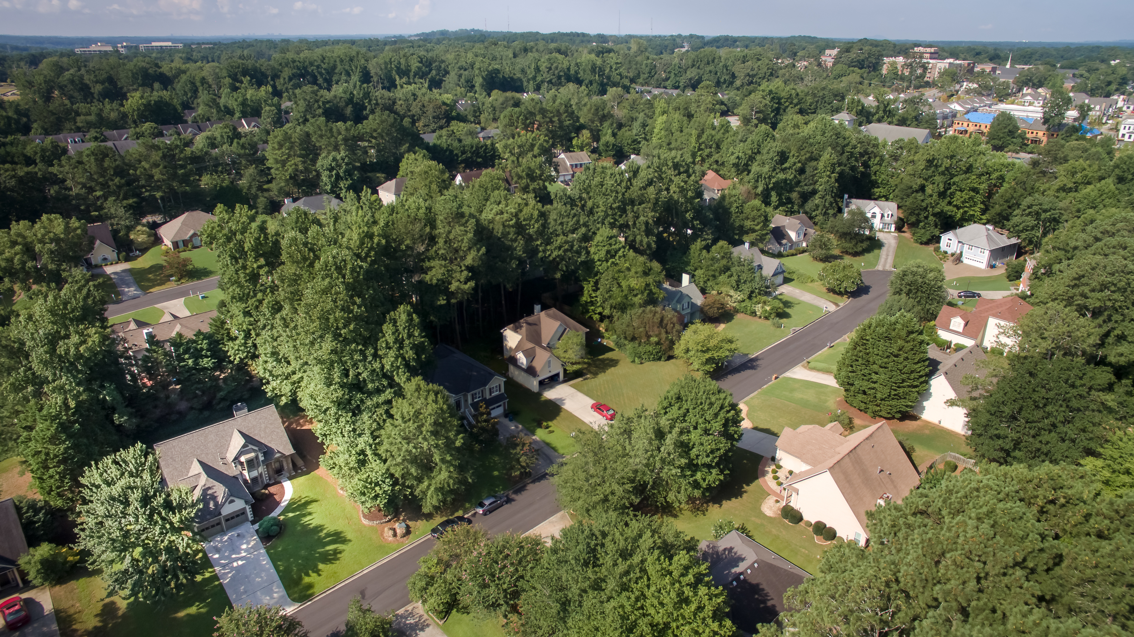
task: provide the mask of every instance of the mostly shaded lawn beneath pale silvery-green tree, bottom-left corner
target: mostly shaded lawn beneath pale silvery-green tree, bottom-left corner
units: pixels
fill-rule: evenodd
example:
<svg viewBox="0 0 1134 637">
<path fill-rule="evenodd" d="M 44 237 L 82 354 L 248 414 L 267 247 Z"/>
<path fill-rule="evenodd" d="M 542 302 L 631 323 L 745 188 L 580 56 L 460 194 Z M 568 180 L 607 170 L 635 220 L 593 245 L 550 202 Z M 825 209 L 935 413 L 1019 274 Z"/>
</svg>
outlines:
<svg viewBox="0 0 1134 637">
<path fill-rule="evenodd" d="M 201 637 L 212 635 L 219 617 L 229 608 L 228 595 L 217 578 L 209 558 L 208 571 L 180 595 L 163 604 L 127 602 L 107 597 L 102 579 L 85 568 L 51 587 L 51 601 L 62 635 L 69 637 Z"/>
</svg>

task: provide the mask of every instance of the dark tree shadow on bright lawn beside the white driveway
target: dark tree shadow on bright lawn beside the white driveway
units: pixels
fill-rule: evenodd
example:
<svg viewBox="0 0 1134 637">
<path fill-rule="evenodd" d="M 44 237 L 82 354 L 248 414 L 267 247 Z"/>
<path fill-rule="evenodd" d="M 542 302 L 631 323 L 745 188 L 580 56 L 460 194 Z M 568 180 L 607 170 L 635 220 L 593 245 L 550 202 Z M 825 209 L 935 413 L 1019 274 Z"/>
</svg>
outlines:
<svg viewBox="0 0 1134 637">
<path fill-rule="evenodd" d="M 272 551 L 271 559 L 288 596 L 307 600 L 316 593 L 311 579 L 322 574 L 323 564 L 332 564 L 342 557 L 350 540 L 345 533 L 316 521 L 320 501 L 314 498 L 294 498 L 284 512 L 284 534 Z M 272 543 L 273 545 L 276 542 Z"/>
</svg>

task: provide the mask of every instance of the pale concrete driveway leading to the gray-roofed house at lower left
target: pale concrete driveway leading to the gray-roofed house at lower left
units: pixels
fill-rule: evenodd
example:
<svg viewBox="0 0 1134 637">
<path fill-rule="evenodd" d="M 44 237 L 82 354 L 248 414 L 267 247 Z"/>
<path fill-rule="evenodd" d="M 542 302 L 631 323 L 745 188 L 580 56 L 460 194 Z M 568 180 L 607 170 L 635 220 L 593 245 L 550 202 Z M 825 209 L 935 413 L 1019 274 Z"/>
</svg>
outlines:
<svg viewBox="0 0 1134 637">
<path fill-rule="evenodd" d="M 288 598 L 276 567 L 248 523 L 213 536 L 205 552 L 234 606 L 279 605 L 290 610 L 297 605 Z"/>
</svg>

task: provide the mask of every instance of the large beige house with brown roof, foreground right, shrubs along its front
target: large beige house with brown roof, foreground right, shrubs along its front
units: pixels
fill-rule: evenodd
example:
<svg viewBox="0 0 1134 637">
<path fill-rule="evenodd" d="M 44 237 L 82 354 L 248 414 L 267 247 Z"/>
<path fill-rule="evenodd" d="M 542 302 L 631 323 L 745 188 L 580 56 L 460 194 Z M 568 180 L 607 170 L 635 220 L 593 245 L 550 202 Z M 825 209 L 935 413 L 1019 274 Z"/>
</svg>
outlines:
<svg viewBox="0 0 1134 637">
<path fill-rule="evenodd" d="M 822 520 L 848 542 L 865 546 L 866 511 L 902 502 L 921 476 L 886 422 L 846 438 L 840 431 L 838 423 L 784 430 L 776 441 L 776 461 L 795 473 L 780 493 L 804 518 Z"/>
</svg>

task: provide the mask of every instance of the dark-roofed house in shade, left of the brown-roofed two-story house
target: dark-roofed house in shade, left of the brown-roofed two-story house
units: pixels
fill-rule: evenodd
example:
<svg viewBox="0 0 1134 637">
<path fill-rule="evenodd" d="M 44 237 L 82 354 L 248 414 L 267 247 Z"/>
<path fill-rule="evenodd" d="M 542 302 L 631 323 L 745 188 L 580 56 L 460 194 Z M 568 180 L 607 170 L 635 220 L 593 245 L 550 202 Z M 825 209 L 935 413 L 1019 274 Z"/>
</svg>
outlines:
<svg viewBox="0 0 1134 637">
<path fill-rule="evenodd" d="M 454 408 L 472 421 L 483 402 L 491 416 L 508 410 L 503 376 L 447 345 L 433 349 L 433 367 L 424 374 L 429 382 L 449 392 Z"/>
</svg>

